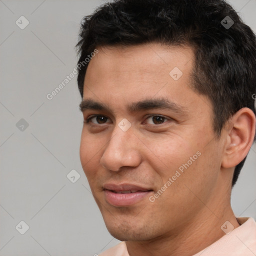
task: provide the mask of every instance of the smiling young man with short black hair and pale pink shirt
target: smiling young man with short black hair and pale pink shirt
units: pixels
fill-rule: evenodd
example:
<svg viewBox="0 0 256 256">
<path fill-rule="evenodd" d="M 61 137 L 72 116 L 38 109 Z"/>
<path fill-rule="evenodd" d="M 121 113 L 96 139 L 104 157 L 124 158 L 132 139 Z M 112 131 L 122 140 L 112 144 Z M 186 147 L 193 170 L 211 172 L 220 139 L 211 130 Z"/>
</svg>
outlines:
<svg viewBox="0 0 256 256">
<path fill-rule="evenodd" d="M 79 36 L 81 164 L 122 241 L 100 255 L 256 255 L 230 206 L 255 137 L 252 30 L 223 0 L 115 0 Z"/>
</svg>

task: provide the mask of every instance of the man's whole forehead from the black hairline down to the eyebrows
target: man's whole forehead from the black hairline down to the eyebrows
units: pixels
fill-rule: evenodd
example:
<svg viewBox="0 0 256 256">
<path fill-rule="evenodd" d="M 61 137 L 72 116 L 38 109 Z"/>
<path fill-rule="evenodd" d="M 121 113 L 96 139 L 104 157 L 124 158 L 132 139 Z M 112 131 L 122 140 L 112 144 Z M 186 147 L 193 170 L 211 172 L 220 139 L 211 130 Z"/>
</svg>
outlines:
<svg viewBox="0 0 256 256">
<path fill-rule="evenodd" d="M 159 97 L 185 108 L 203 103 L 196 101 L 190 86 L 191 47 L 148 43 L 97 49 L 87 67 L 83 98 L 101 101 L 111 109 Z"/>
</svg>

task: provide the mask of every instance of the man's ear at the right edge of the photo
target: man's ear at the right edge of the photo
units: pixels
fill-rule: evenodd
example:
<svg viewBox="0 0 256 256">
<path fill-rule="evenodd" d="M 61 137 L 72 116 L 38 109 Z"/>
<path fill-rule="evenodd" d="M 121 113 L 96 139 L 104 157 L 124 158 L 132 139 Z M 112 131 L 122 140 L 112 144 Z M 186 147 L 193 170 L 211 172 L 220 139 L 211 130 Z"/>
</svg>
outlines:
<svg viewBox="0 0 256 256">
<path fill-rule="evenodd" d="M 253 143 L 255 123 L 255 114 L 247 107 L 239 109 L 229 118 L 222 167 L 234 167 L 244 159 Z"/>
</svg>

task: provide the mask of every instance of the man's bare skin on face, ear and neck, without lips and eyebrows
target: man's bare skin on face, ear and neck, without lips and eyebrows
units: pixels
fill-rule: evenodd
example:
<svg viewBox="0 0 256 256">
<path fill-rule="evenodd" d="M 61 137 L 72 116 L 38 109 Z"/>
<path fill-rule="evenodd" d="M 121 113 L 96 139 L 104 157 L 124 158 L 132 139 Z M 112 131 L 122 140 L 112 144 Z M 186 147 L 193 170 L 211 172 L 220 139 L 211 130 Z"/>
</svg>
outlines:
<svg viewBox="0 0 256 256">
<path fill-rule="evenodd" d="M 255 116 L 240 109 L 216 137 L 209 99 L 191 89 L 194 54 L 189 46 L 97 48 L 87 67 L 83 99 L 103 102 L 111 111 L 82 112 L 84 119 L 106 118 L 84 123 L 80 160 L 106 227 L 126 241 L 130 256 L 195 254 L 225 234 L 220 228 L 225 221 L 239 226 L 230 206 L 231 180 L 252 144 Z M 169 75 L 175 66 L 183 73 L 176 81 Z M 185 113 L 126 108 L 159 97 Z M 157 122 L 150 114 L 166 118 Z M 118 126 L 123 118 L 131 123 L 125 132 Z M 105 200 L 102 185 L 107 182 L 140 184 L 152 189 L 152 196 L 197 151 L 200 156 L 154 202 L 146 196 L 118 207 Z"/>
</svg>

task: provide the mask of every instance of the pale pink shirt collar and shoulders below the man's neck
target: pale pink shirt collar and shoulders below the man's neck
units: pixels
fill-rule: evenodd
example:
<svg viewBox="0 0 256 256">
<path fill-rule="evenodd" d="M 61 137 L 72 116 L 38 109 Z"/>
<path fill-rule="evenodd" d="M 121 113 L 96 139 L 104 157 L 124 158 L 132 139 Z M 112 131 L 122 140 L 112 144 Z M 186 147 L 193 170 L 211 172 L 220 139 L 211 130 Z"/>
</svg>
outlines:
<svg viewBox="0 0 256 256">
<path fill-rule="evenodd" d="M 237 218 L 240 226 L 191 256 L 256 256 L 256 222 L 252 217 Z M 99 256 L 129 256 L 122 241 Z"/>
</svg>

